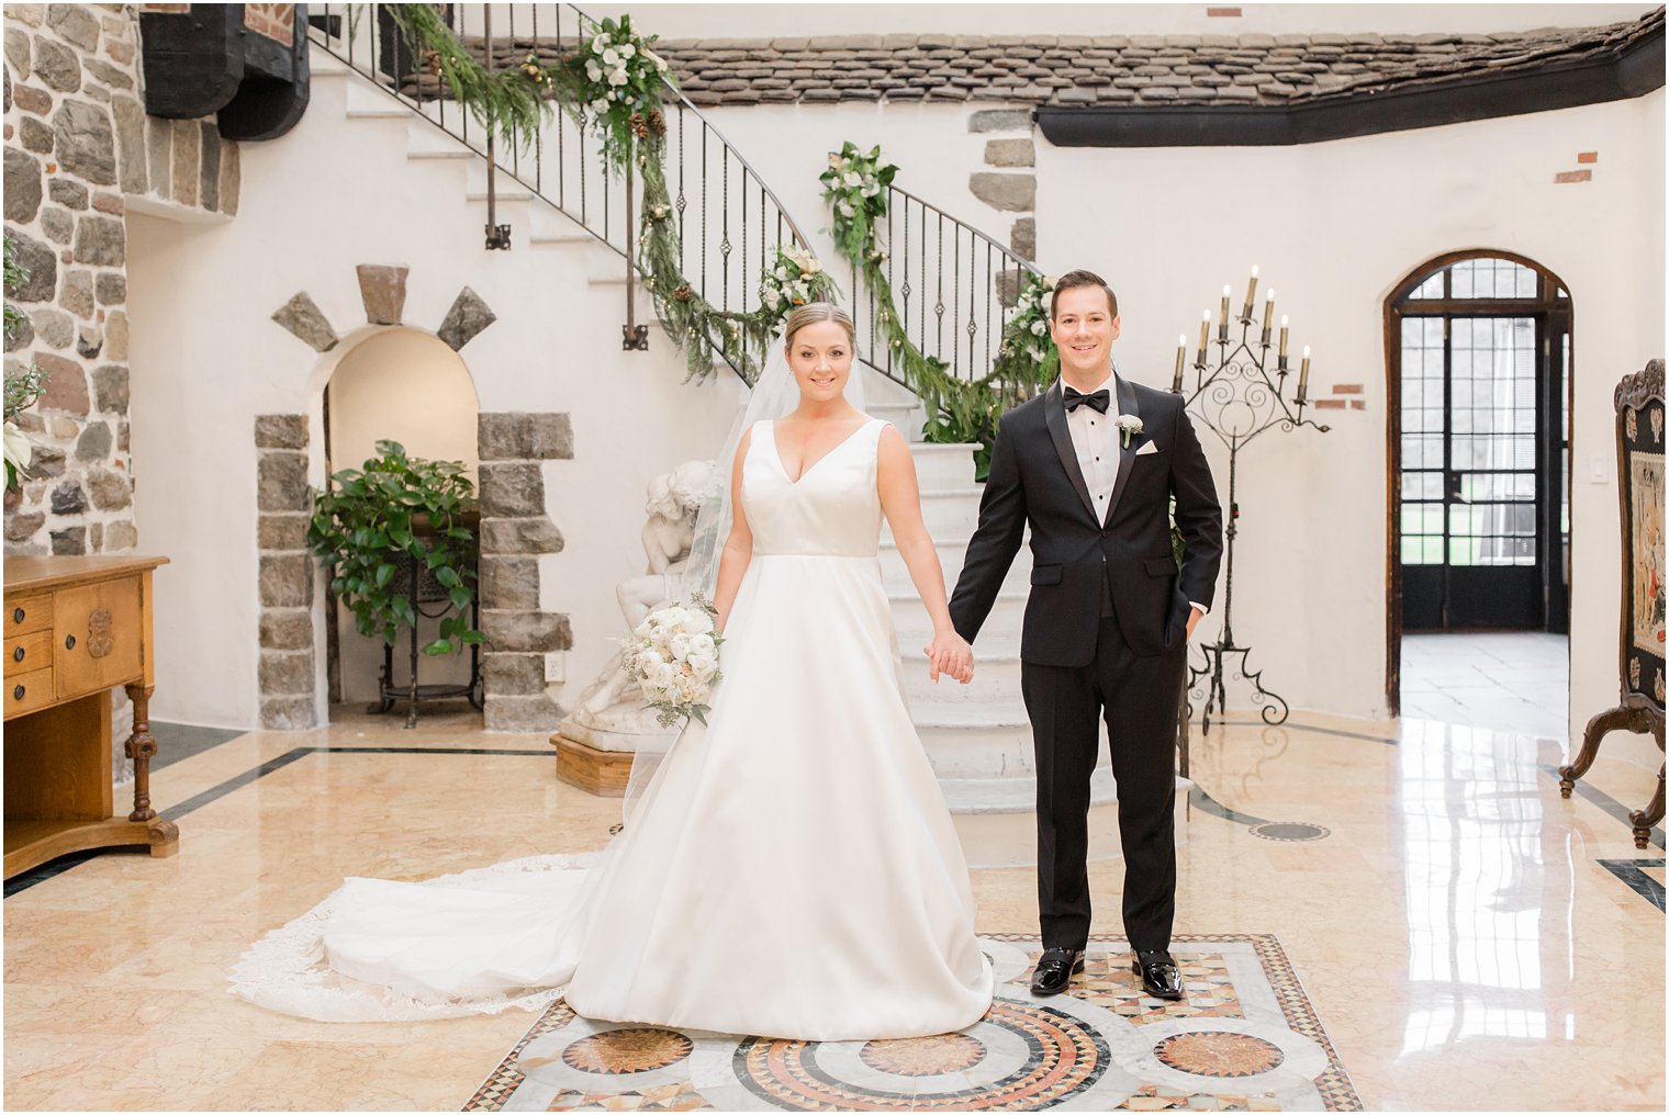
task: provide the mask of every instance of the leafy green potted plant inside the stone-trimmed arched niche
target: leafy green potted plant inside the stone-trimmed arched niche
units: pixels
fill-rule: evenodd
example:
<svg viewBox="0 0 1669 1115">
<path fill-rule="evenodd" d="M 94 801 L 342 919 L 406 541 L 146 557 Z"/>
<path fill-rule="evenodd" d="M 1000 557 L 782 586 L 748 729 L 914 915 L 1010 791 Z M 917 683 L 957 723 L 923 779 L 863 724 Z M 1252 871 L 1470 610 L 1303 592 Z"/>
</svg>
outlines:
<svg viewBox="0 0 1669 1115">
<path fill-rule="evenodd" d="M 484 641 L 469 624 L 479 522 L 462 462 L 411 457 L 397 441 L 379 441 L 376 457 L 342 469 L 314 494 L 307 542 L 330 569 L 330 591 L 352 609 L 359 633 L 389 646 L 401 624 L 417 624 L 417 603 L 399 576 L 406 556 L 416 561 L 456 608 L 422 649 L 451 654 Z"/>
</svg>

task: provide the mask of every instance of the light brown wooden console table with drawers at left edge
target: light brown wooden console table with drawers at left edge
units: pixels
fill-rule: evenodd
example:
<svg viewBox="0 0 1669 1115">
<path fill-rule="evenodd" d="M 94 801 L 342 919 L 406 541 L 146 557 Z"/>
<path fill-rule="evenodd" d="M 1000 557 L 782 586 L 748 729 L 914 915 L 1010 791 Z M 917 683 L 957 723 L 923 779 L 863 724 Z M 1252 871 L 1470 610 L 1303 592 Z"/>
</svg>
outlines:
<svg viewBox="0 0 1669 1115">
<path fill-rule="evenodd" d="M 150 574 L 167 558 L 5 559 L 5 878 L 88 848 L 179 851 L 150 808 Z M 110 688 L 134 699 L 134 811 L 113 815 Z"/>
</svg>

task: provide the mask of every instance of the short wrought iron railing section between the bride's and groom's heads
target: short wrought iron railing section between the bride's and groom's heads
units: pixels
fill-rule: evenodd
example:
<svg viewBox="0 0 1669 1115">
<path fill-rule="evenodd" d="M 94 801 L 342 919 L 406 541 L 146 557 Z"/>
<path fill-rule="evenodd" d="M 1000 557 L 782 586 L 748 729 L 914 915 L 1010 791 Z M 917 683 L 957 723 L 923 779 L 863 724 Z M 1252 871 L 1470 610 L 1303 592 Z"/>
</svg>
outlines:
<svg viewBox="0 0 1669 1115">
<path fill-rule="evenodd" d="M 1036 264 L 896 185 L 886 187 L 886 217 L 876 232 L 886 245 L 881 269 L 905 336 L 923 356 L 945 361 L 956 379 L 986 377 L 1015 315 L 1015 295 L 1038 274 Z M 851 289 L 863 292 L 855 319 L 860 337 L 868 336 L 870 359 L 903 382 L 881 336 L 875 292 L 865 290 L 856 269 Z"/>
</svg>

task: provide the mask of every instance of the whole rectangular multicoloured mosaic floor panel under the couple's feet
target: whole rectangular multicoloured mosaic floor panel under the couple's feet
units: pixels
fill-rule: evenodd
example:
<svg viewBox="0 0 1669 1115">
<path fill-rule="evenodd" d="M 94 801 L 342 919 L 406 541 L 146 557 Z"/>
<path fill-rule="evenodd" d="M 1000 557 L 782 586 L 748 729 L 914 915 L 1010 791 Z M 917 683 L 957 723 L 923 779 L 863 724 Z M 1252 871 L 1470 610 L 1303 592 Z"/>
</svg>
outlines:
<svg viewBox="0 0 1669 1115">
<path fill-rule="evenodd" d="M 464 1110 L 1360 1110 L 1270 935 L 1178 936 L 1187 998 L 1142 993 L 1125 941 L 1070 993 L 1028 990 L 1040 943 L 981 938 L 991 1010 L 961 1033 L 788 1042 L 599 1023 L 556 1003 Z"/>
</svg>

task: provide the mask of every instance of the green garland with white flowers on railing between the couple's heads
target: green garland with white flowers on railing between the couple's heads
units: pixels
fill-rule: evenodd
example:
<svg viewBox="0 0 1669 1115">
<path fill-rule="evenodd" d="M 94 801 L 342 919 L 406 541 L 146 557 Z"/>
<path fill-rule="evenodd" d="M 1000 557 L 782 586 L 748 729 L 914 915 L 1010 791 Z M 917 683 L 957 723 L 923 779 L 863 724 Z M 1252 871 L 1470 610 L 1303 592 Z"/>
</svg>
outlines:
<svg viewBox="0 0 1669 1115">
<path fill-rule="evenodd" d="M 978 444 L 978 479 L 985 479 L 1003 411 L 1046 387 L 1060 369 L 1060 354 L 1048 342 L 1048 292 L 1053 284 L 1028 272 L 1016 292 L 1015 317 L 1003 327 L 998 359 L 980 379 L 951 376 L 950 364 L 918 349 L 900 320 L 893 287 L 886 279 L 886 247 L 876 225 L 886 215 L 886 185 L 898 167 L 881 164 L 881 149 L 861 150 L 850 140 L 829 155 L 819 175 L 823 197 L 833 210 L 834 247 L 863 275 L 875 299 L 875 320 L 886 351 L 905 372 L 905 382 L 928 409 L 923 437 L 941 444 Z"/>
</svg>

